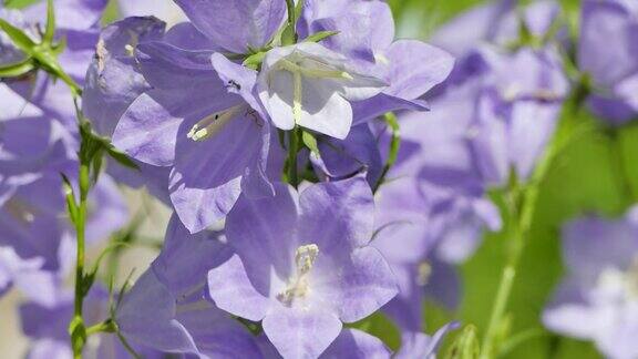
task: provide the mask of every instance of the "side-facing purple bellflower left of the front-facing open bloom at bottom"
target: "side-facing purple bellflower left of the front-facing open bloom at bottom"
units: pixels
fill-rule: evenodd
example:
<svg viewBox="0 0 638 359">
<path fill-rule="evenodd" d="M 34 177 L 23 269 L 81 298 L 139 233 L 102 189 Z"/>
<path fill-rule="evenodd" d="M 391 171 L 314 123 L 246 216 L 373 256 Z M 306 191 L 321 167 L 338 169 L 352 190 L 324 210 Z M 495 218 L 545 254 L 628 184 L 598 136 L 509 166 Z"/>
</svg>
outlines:
<svg viewBox="0 0 638 359">
<path fill-rule="evenodd" d="M 209 268 L 231 249 L 214 232 L 191 235 L 174 216 L 164 248 L 125 294 L 115 320 L 132 342 L 202 358 L 256 358 L 257 343 L 238 321 L 206 298 Z"/>
</svg>

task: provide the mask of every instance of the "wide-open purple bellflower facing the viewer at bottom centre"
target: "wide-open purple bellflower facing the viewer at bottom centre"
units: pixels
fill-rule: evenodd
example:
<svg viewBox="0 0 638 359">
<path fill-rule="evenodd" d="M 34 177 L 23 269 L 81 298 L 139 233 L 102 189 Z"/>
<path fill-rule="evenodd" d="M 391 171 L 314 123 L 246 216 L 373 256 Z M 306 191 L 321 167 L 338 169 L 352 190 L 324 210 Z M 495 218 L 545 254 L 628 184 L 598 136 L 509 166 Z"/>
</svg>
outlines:
<svg viewBox="0 0 638 359">
<path fill-rule="evenodd" d="M 240 197 L 226 220 L 236 254 L 208 273 L 217 306 L 259 321 L 286 358 L 319 357 L 341 331 L 397 294 L 368 245 L 373 202 L 362 176 L 308 187 L 277 184 L 275 197 Z"/>
</svg>

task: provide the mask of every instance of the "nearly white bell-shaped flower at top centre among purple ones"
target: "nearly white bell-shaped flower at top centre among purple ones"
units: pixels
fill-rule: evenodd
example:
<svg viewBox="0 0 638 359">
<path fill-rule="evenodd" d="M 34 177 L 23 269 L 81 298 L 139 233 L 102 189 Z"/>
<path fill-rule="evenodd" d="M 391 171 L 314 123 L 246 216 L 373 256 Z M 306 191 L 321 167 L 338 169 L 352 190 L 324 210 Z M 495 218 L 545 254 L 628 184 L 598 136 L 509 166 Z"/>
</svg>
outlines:
<svg viewBox="0 0 638 359">
<path fill-rule="evenodd" d="M 350 102 L 370 99 L 384 86 L 315 42 L 268 51 L 257 82 L 259 99 L 277 127 L 291 130 L 297 124 L 340 140 L 352 124 Z"/>
</svg>

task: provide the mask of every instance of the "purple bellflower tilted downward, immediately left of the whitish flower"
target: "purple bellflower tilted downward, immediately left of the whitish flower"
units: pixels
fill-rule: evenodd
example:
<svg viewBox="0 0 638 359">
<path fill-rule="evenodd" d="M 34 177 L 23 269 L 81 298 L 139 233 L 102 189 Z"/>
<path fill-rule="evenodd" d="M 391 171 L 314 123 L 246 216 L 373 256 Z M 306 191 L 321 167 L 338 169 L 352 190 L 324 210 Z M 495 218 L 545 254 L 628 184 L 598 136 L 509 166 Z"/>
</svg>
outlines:
<svg viewBox="0 0 638 359">
<path fill-rule="evenodd" d="M 253 94 L 256 72 L 202 50 L 209 43 L 193 31 L 179 27 L 166 41 L 137 47 L 140 71 L 153 89 L 123 113 L 113 143 L 171 171 L 171 202 L 196 233 L 222 219 L 241 192 L 267 196 L 272 188 L 271 131 Z"/>
</svg>

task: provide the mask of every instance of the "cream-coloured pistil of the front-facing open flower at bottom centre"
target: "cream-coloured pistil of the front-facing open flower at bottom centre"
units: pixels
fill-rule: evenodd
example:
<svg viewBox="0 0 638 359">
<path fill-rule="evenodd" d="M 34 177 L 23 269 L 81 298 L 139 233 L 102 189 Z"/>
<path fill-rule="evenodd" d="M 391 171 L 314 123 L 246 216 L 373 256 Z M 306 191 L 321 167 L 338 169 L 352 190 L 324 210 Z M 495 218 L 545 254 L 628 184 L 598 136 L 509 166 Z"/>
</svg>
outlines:
<svg viewBox="0 0 638 359">
<path fill-rule="evenodd" d="M 286 289 L 277 295 L 285 305 L 289 306 L 296 298 L 303 298 L 310 291 L 308 275 L 319 256 L 319 246 L 309 244 L 300 246 L 295 252 L 296 273 L 290 278 Z"/>
</svg>

